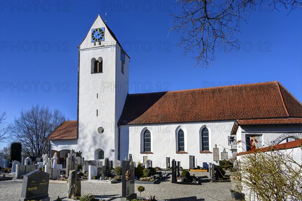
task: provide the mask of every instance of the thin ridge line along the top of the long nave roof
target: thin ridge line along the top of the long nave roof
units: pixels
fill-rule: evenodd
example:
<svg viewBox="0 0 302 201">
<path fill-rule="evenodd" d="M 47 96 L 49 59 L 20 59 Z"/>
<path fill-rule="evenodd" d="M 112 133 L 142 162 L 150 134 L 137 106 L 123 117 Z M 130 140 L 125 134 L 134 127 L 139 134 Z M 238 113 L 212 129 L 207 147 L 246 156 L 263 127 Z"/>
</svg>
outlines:
<svg viewBox="0 0 302 201">
<path fill-rule="evenodd" d="M 183 91 L 199 91 L 199 90 L 209 90 L 209 89 L 220 89 L 220 88 L 232 88 L 232 87 L 242 87 L 242 86 L 255 86 L 255 85 L 267 85 L 278 83 L 278 81 L 271 82 L 261 82 L 261 83 L 249 83 L 249 84 L 241 84 L 241 85 L 230 85 L 230 86 L 217 86 L 217 87 L 207 87 L 207 88 L 196 88 L 196 89 L 184 89 L 184 90 L 175 90 L 175 91 L 163 91 L 163 92 L 149 92 L 149 93 L 135 93 L 129 95 L 141 95 L 141 94 L 156 94 L 156 93 L 174 93 L 174 92 L 183 92 Z"/>
</svg>

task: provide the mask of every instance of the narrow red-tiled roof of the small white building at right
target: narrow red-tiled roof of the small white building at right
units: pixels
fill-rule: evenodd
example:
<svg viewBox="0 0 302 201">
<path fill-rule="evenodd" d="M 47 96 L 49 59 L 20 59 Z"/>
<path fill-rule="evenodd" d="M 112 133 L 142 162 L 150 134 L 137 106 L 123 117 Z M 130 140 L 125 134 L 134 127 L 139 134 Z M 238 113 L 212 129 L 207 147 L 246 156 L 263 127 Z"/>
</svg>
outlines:
<svg viewBox="0 0 302 201">
<path fill-rule="evenodd" d="M 302 118 L 241 119 L 237 122 L 239 125 L 302 124 Z"/>
</svg>

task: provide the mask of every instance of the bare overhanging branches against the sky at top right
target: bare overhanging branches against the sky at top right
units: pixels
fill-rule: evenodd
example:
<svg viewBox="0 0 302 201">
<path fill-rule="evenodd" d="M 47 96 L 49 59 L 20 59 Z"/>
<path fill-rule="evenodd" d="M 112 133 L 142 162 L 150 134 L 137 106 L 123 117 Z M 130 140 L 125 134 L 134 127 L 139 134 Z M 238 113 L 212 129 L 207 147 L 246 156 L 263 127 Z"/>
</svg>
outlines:
<svg viewBox="0 0 302 201">
<path fill-rule="evenodd" d="M 240 48 L 235 34 L 256 8 L 272 10 L 284 7 L 289 12 L 301 2 L 298 0 L 178 0 L 181 14 L 174 14 L 171 30 L 182 33 L 179 45 L 184 45 L 185 55 L 194 54 L 196 64 L 208 67 L 215 60 L 215 49 L 225 52 Z"/>
</svg>

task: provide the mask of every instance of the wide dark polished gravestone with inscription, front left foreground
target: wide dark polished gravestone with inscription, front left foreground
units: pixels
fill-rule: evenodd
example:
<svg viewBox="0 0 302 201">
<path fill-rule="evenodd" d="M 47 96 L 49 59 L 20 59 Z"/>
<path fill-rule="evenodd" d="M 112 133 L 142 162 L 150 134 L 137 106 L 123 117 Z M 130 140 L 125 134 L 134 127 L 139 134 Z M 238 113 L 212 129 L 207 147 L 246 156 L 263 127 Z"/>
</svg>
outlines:
<svg viewBox="0 0 302 201">
<path fill-rule="evenodd" d="M 41 170 L 33 170 L 23 177 L 22 192 L 19 201 L 43 200 L 49 201 L 49 174 Z"/>
</svg>

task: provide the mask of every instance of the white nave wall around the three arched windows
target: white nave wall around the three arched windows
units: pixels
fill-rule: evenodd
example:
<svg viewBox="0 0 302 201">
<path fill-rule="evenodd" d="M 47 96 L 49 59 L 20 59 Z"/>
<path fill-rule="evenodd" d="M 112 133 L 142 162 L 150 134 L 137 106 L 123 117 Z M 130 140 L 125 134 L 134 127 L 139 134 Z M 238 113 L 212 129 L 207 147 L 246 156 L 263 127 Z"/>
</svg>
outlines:
<svg viewBox="0 0 302 201">
<path fill-rule="evenodd" d="M 177 161 L 181 161 L 183 168 L 189 168 L 189 156 L 195 156 L 197 163 L 195 166 L 203 167 L 203 163 L 213 163 L 212 153 L 200 153 L 200 131 L 201 128 L 207 127 L 209 130 L 209 151 L 213 152 L 213 148 L 217 145 L 220 152 L 228 152 L 231 157 L 231 151 L 228 146 L 228 136 L 234 121 L 216 121 L 216 122 L 194 122 L 194 123 L 171 123 L 171 124 L 150 124 L 150 125 L 130 125 L 121 126 L 121 159 L 132 154 L 135 162 L 143 162 L 143 157 L 153 161 L 153 166 L 166 167 L 166 157 L 170 157 Z M 176 130 L 180 127 L 184 128 L 185 132 L 185 151 L 187 154 L 177 154 L 176 150 Z M 141 133 L 148 129 L 152 138 L 153 154 L 141 154 Z M 127 135 L 129 129 L 129 135 Z M 129 143 L 127 143 L 129 142 Z M 129 146 L 127 147 L 127 144 Z M 127 154 L 125 154 L 127 152 Z"/>
</svg>

